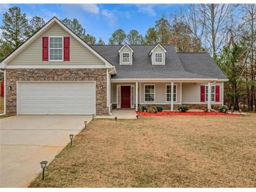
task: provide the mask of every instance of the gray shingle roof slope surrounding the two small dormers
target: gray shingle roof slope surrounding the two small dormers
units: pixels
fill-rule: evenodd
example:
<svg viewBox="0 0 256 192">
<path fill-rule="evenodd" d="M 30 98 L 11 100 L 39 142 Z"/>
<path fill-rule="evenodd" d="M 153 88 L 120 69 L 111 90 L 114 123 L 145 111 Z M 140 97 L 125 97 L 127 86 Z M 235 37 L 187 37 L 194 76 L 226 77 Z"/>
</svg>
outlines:
<svg viewBox="0 0 256 192">
<path fill-rule="evenodd" d="M 133 64 L 120 65 L 117 45 L 91 46 L 116 67 L 112 78 L 219 78 L 227 79 L 208 53 L 176 53 L 174 46 L 166 48 L 166 64 L 152 65 L 148 55 L 154 45 L 129 45 L 133 48 Z"/>
</svg>

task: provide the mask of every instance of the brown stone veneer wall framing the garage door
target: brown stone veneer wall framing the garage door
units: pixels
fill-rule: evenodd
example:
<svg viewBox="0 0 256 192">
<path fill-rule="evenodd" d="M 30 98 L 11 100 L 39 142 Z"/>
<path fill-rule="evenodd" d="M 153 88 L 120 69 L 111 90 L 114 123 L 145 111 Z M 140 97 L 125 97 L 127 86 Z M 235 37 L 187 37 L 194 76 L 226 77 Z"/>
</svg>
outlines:
<svg viewBox="0 0 256 192">
<path fill-rule="evenodd" d="M 6 115 L 17 114 L 17 81 L 95 81 L 96 114 L 108 115 L 107 69 L 6 69 Z M 11 90 L 8 87 L 11 86 Z"/>
</svg>

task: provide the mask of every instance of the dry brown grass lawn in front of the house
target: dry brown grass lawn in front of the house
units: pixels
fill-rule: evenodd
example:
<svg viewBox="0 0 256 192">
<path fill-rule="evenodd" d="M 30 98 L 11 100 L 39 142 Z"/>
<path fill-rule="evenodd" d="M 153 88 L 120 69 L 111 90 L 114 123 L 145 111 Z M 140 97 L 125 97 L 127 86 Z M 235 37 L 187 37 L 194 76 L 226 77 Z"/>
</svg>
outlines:
<svg viewBox="0 0 256 192">
<path fill-rule="evenodd" d="M 30 187 L 256 187 L 256 114 L 95 120 Z"/>
</svg>

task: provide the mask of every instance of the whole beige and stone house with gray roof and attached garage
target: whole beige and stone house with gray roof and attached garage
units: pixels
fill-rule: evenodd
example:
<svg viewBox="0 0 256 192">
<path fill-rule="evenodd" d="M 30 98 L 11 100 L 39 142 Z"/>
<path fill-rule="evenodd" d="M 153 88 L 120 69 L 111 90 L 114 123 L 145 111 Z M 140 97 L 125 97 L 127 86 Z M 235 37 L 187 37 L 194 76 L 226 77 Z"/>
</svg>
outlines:
<svg viewBox="0 0 256 192">
<path fill-rule="evenodd" d="M 89 46 L 55 17 L 0 68 L 7 115 L 107 115 L 140 104 L 210 109 L 223 104 L 228 81 L 208 53 L 160 43 Z"/>
</svg>

